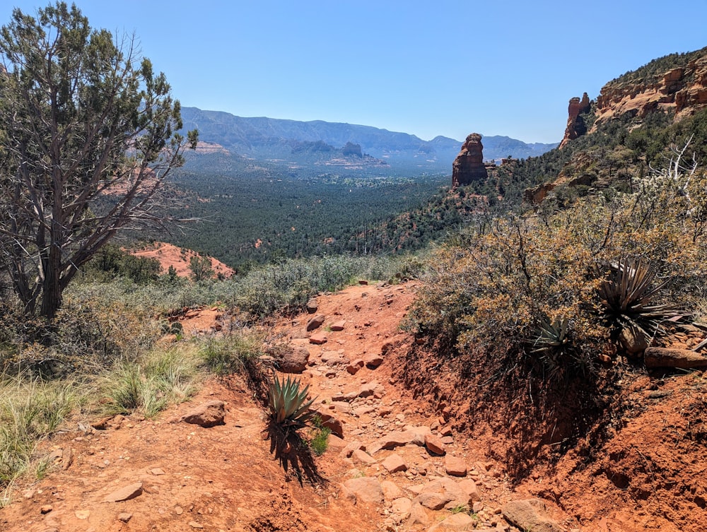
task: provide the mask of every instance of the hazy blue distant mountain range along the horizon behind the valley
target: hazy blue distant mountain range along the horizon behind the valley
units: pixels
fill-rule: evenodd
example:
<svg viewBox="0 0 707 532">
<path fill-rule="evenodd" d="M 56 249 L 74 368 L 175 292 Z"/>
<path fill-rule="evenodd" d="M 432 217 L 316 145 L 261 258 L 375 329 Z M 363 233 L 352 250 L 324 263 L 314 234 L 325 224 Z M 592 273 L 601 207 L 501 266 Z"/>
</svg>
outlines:
<svg viewBox="0 0 707 532">
<path fill-rule="evenodd" d="M 285 160 L 293 164 L 311 163 L 312 150 L 303 143 L 325 143 L 332 148 L 361 146 L 363 154 L 385 161 L 392 168 L 451 172 L 452 162 L 462 141 L 437 136 L 431 141 L 387 129 L 337 122 L 298 122 L 267 117 L 244 118 L 221 111 L 182 107 L 185 129 L 199 129 L 199 140 L 220 144 L 231 153 L 248 158 Z M 472 131 L 469 131 L 472 133 Z M 528 158 L 551 150 L 558 143 L 527 144 L 507 136 L 483 138 L 484 158 L 501 159 L 509 155 Z M 318 153 L 327 150 L 319 149 Z M 379 165 L 380 166 L 380 165 Z"/>
</svg>

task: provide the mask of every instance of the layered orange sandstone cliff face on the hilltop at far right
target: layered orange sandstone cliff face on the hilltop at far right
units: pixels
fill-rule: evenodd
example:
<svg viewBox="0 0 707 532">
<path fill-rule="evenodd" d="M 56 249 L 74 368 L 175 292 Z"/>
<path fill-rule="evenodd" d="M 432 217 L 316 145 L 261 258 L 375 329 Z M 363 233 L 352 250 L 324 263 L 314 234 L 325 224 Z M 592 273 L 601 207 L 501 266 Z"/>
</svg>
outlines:
<svg viewBox="0 0 707 532">
<path fill-rule="evenodd" d="M 595 126 L 628 112 L 643 117 L 655 110 L 674 110 L 677 122 L 703 107 L 707 107 L 707 54 L 649 79 L 610 81 L 597 97 Z"/>
</svg>

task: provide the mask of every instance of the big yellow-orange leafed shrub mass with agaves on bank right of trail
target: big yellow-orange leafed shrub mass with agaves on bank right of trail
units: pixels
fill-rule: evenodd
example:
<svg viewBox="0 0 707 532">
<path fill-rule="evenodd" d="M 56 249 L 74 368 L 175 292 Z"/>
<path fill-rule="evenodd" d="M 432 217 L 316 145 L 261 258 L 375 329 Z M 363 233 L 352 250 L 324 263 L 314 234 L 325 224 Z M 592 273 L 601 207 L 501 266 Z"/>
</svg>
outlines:
<svg viewBox="0 0 707 532">
<path fill-rule="evenodd" d="M 625 355 L 660 344 L 667 318 L 703 307 L 707 176 L 682 166 L 684 153 L 632 193 L 469 224 L 440 249 L 413 323 L 466 376 L 479 409 L 513 390 L 528 427 L 555 422 L 553 441 L 585 437 Z M 571 418 L 558 417 L 566 389 Z M 516 466 L 533 456 L 519 448 Z"/>
</svg>

